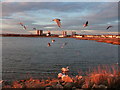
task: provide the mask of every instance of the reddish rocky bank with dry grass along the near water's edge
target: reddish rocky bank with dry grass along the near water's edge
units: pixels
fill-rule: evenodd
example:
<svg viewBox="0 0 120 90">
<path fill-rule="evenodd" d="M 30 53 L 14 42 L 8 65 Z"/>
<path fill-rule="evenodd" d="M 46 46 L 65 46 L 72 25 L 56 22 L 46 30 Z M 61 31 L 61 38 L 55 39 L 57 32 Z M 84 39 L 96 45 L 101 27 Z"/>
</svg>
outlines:
<svg viewBox="0 0 120 90">
<path fill-rule="evenodd" d="M 3 81 L 3 89 L 10 88 L 42 88 L 42 89 L 84 89 L 84 88 L 120 88 L 120 71 L 117 65 L 98 66 L 86 73 L 85 76 L 66 76 L 63 79 L 54 78 L 39 80 L 29 78 L 26 80 L 16 80 L 11 83 Z"/>
</svg>

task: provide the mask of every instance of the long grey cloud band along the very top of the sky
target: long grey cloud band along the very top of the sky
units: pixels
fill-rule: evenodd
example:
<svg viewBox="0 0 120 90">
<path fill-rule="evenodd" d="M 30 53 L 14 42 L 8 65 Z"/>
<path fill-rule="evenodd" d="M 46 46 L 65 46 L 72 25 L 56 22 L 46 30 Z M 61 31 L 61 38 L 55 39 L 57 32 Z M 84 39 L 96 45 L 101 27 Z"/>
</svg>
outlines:
<svg viewBox="0 0 120 90">
<path fill-rule="evenodd" d="M 85 9 L 92 9 L 99 3 L 92 2 L 4 2 L 2 5 L 3 16 L 11 15 L 17 12 L 25 12 L 31 10 L 53 10 L 56 12 L 78 12 Z"/>
</svg>

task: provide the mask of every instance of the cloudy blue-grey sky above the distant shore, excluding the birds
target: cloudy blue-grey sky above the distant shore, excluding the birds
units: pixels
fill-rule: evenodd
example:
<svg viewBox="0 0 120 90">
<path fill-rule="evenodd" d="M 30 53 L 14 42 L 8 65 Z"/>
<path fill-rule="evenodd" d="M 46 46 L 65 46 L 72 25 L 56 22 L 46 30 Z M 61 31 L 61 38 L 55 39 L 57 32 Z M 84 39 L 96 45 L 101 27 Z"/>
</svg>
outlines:
<svg viewBox="0 0 120 90">
<path fill-rule="evenodd" d="M 2 33 L 36 33 L 33 30 L 36 28 L 52 33 L 66 30 L 81 34 L 118 34 L 118 2 L 2 1 Z M 61 19 L 61 28 L 52 21 L 55 18 Z M 86 21 L 89 24 L 83 27 Z M 106 30 L 109 25 L 113 27 Z"/>
</svg>

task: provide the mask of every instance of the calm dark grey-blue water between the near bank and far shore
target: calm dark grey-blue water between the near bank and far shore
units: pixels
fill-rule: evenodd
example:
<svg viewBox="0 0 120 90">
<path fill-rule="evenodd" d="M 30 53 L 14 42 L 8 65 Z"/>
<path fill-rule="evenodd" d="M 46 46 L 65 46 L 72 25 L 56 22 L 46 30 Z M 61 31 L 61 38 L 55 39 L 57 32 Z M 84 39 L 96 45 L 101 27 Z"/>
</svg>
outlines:
<svg viewBox="0 0 120 90">
<path fill-rule="evenodd" d="M 3 37 L 3 79 L 57 77 L 69 66 L 72 75 L 98 64 L 116 64 L 118 45 L 72 38 Z M 47 43 L 51 43 L 51 47 Z M 63 46 L 63 43 L 67 43 Z M 63 48 L 61 48 L 63 46 Z"/>
</svg>

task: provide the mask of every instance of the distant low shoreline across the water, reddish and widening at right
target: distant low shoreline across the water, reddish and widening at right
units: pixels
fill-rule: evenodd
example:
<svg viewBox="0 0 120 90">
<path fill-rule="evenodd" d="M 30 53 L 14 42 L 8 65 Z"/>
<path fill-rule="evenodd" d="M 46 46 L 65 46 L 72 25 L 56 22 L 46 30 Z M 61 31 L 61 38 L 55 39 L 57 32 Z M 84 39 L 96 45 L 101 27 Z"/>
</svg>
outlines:
<svg viewBox="0 0 120 90">
<path fill-rule="evenodd" d="M 36 34 L 1 34 L 1 37 L 52 37 L 52 38 L 75 38 L 77 40 L 94 40 L 96 42 L 103 42 L 103 43 L 109 43 L 114 45 L 120 45 L 120 38 L 111 38 L 111 37 L 75 37 L 72 35 L 67 35 L 64 37 L 59 37 L 59 35 L 52 35 L 52 36 L 46 36 L 46 35 L 36 35 Z M 100 36 L 100 35 L 93 35 L 93 36 Z M 119 35 L 118 35 L 119 36 Z"/>
</svg>

